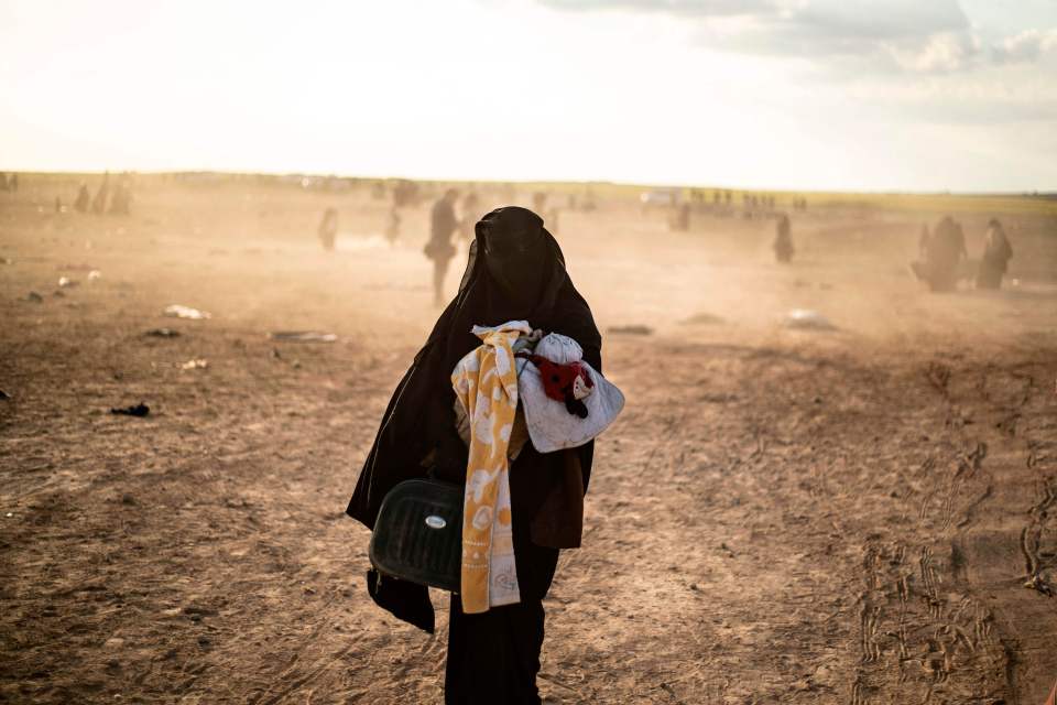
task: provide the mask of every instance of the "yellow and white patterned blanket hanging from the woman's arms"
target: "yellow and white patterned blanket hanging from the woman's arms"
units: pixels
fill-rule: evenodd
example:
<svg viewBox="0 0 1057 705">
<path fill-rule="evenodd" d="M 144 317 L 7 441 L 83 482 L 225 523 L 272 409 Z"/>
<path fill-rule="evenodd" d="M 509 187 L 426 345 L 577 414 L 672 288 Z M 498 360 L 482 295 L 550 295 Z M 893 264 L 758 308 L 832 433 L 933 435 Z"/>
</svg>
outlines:
<svg viewBox="0 0 1057 705">
<path fill-rule="evenodd" d="M 467 614 L 521 601 L 514 565 L 506 448 L 517 411 L 517 370 L 511 346 L 532 328 L 511 321 L 473 327 L 482 345 L 451 373 L 455 395 L 470 422 L 462 514 L 460 595 Z"/>
</svg>

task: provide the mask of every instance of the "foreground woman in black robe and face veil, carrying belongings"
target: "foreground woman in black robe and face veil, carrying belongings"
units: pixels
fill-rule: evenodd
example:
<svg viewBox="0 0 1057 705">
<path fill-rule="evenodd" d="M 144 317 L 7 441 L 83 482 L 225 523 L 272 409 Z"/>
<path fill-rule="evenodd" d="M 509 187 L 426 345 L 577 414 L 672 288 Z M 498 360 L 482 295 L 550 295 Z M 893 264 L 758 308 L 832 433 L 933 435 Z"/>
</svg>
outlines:
<svg viewBox="0 0 1057 705">
<path fill-rule="evenodd" d="M 432 469 L 466 481 L 467 448 L 455 422 L 451 370 L 480 345 L 475 325 L 524 319 L 560 333 L 584 348 L 601 371 L 601 336 L 573 285 L 557 241 L 525 208 L 499 208 L 477 224 L 459 293 L 437 319 L 426 344 L 393 393 L 347 513 L 373 529 L 382 498 L 399 482 Z M 541 454 L 531 442 L 510 468 L 514 555 L 521 601 L 466 615 L 451 596 L 446 703 L 538 703 L 535 685 L 543 646 L 542 600 L 558 550 L 579 545 L 582 492 L 593 443 Z M 396 617 L 433 632 L 428 590 L 368 573 L 371 597 Z"/>
</svg>

